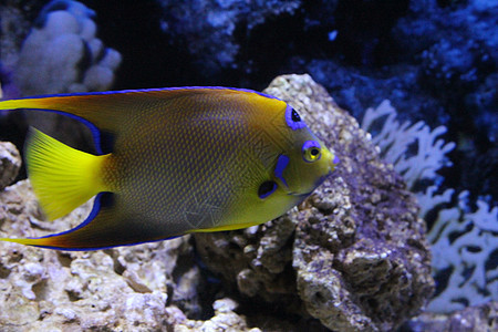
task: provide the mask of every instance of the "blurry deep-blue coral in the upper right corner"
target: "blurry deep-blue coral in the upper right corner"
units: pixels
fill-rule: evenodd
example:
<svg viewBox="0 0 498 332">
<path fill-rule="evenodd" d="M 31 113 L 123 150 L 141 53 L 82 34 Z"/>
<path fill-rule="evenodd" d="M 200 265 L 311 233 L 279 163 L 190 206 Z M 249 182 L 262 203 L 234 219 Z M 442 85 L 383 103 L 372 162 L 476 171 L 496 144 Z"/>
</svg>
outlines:
<svg viewBox="0 0 498 332">
<path fill-rule="evenodd" d="M 393 33 L 405 51 L 422 53 L 418 85 L 446 102 L 454 122 L 468 132 L 476 125 L 481 137 L 496 142 L 496 103 L 481 100 L 498 94 L 496 84 L 486 83 L 498 65 L 498 6 L 481 0 L 443 2 L 412 1 Z"/>
</svg>

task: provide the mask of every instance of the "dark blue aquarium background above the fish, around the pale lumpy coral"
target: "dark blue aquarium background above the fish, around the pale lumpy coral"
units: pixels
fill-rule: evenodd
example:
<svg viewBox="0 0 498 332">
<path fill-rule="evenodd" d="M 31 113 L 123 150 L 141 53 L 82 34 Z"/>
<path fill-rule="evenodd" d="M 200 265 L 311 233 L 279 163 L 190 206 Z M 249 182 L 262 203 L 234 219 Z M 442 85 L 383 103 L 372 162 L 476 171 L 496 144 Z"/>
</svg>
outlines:
<svg viewBox="0 0 498 332">
<path fill-rule="evenodd" d="M 19 52 L 33 24 L 43 25 L 49 10 L 64 2 L 70 3 L 53 1 L 41 12 L 50 1 L 7 0 L 4 90 L 15 72 L 12 53 Z M 442 170 L 445 185 L 497 203 L 495 1 L 80 3 L 91 9 L 79 14 L 95 22 L 95 37 L 122 56 L 107 87 L 262 90 L 279 74 L 310 73 L 356 118 L 390 100 L 402 120 L 445 125 L 445 139 L 457 143 L 449 155 L 453 167 Z M 92 43 L 85 48 L 91 52 Z M 84 69 L 92 61 L 86 52 L 77 66 Z M 50 87 L 45 84 L 40 93 L 53 93 Z"/>
</svg>

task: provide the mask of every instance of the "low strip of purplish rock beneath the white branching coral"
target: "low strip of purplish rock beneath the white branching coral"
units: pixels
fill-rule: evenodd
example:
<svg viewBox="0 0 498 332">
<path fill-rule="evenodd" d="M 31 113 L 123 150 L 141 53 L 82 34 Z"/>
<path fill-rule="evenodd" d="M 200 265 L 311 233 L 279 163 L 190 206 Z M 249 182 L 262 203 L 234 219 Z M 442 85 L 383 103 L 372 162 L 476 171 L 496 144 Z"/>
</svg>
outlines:
<svg viewBox="0 0 498 332">
<path fill-rule="evenodd" d="M 498 302 L 468 307 L 450 314 L 424 312 L 403 326 L 403 331 L 487 332 L 498 330 Z"/>
</svg>

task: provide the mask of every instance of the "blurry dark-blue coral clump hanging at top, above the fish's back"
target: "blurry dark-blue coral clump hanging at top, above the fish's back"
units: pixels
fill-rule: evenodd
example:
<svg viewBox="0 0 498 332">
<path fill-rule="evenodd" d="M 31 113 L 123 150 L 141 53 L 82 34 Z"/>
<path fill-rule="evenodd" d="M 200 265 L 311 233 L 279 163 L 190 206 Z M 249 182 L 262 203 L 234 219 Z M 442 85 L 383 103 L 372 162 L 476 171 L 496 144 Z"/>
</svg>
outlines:
<svg viewBox="0 0 498 332">
<path fill-rule="evenodd" d="M 163 0 L 159 3 L 164 8 L 165 31 L 184 40 L 189 53 L 207 71 L 205 74 L 235 65 L 240 49 L 236 28 L 245 25 L 250 31 L 268 18 L 293 13 L 300 7 L 299 0 L 255 1 L 249 6 L 243 0 Z"/>
</svg>

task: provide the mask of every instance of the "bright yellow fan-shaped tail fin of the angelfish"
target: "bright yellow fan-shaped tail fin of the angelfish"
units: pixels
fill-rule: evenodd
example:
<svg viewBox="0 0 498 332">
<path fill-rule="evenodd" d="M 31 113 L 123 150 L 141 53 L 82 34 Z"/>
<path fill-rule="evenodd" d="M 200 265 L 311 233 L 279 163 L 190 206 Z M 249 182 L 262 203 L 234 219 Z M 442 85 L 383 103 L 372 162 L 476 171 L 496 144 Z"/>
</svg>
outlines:
<svg viewBox="0 0 498 332">
<path fill-rule="evenodd" d="M 72 148 L 40 131 L 31 129 L 27 143 L 28 176 L 50 220 L 65 216 L 100 191 L 106 191 L 103 162 Z"/>
</svg>

